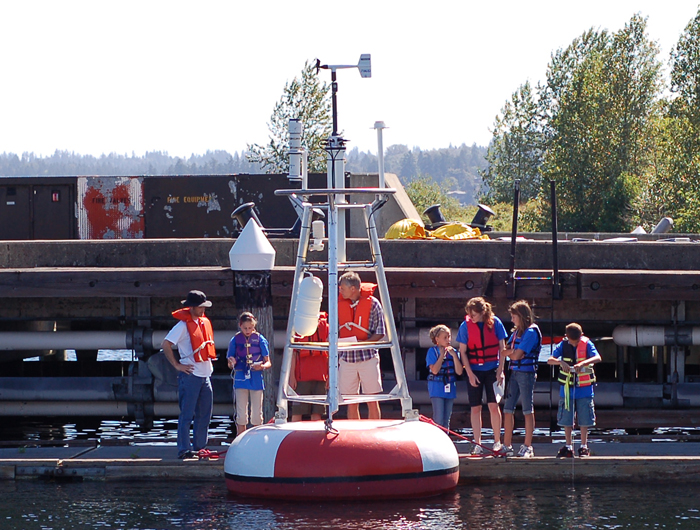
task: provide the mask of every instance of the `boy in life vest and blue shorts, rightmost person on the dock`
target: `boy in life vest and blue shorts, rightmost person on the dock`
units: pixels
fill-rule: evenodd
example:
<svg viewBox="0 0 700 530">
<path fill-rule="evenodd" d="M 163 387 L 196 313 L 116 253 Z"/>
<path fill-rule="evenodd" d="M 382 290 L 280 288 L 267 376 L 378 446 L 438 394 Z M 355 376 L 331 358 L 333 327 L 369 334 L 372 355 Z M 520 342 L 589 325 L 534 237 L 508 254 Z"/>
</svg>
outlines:
<svg viewBox="0 0 700 530">
<path fill-rule="evenodd" d="M 593 365 L 601 361 L 593 342 L 583 335 L 579 324 L 566 326 L 566 337 L 557 344 L 547 364 L 559 366 L 559 410 L 557 424 L 564 427 L 566 445 L 559 450 L 557 458 L 573 458 L 574 448 L 571 433 L 574 429 L 574 413 L 581 429 L 579 456 L 589 456 L 588 428 L 595 425 L 593 387 L 595 373 Z M 567 395 L 568 394 L 568 395 Z"/>
</svg>

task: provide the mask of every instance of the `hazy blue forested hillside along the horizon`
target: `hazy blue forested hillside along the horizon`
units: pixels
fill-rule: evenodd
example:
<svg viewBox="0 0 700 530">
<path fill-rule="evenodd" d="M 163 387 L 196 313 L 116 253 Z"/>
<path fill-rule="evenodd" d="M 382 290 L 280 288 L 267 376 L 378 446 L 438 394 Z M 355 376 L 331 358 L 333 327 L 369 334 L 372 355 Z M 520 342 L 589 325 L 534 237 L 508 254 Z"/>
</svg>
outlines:
<svg viewBox="0 0 700 530">
<path fill-rule="evenodd" d="M 405 145 L 386 149 L 384 167 L 396 173 L 401 182 L 408 183 L 419 176 L 430 176 L 447 192 L 455 192 L 464 204 L 474 204 L 481 186 L 478 171 L 487 166 L 486 147 L 447 147 L 422 151 Z M 360 152 L 348 152 L 347 170 L 353 173 L 376 173 L 377 157 Z M 24 153 L 0 153 L 0 176 L 58 176 L 58 175 L 222 175 L 232 173 L 261 173 L 258 164 L 246 160 L 245 153 L 207 151 L 189 158 L 170 156 L 153 151 L 144 156 L 111 153 L 99 157 L 56 151 L 47 157 Z"/>
</svg>

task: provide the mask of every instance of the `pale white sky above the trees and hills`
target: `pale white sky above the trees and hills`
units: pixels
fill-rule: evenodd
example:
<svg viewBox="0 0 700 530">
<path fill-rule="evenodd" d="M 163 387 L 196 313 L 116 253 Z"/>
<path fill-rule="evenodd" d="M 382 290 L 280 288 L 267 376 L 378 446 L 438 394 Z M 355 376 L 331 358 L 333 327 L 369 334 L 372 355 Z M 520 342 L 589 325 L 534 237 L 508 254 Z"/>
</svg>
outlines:
<svg viewBox="0 0 700 530">
<path fill-rule="evenodd" d="M 242 151 L 306 60 L 338 73 L 348 147 L 488 144 L 550 55 L 634 13 L 668 54 L 698 0 L 0 0 L 0 152 Z M 330 81 L 330 73 L 321 76 Z"/>
</svg>

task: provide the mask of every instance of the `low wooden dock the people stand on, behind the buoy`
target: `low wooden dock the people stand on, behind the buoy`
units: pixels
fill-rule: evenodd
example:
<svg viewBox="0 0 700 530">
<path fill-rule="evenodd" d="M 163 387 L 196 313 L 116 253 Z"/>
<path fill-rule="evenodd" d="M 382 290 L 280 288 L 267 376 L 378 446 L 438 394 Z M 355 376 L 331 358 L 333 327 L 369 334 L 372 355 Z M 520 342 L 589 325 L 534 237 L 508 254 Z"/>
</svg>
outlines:
<svg viewBox="0 0 700 530">
<path fill-rule="evenodd" d="M 574 459 L 557 459 L 560 444 L 552 443 L 536 443 L 531 459 L 473 457 L 467 454 L 470 444 L 456 447 L 460 484 L 674 482 L 694 480 L 700 473 L 700 442 L 591 443 L 592 456 Z M 1 448 L 0 480 L 224 480 L 224 455 L 182 461 L 176 454 L 172 445 Z"/>
</svg>

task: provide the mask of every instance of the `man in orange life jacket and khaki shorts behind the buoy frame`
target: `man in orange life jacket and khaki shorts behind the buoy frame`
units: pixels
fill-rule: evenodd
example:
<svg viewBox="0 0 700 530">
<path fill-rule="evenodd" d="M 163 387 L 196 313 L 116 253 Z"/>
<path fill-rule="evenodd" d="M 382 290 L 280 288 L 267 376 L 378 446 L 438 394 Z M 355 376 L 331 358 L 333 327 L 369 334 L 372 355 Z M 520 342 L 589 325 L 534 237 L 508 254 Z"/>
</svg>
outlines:
<svg viewBox="0 0 700 530">
<path fill-rule="evenodd" d="M 384 310 L 372 293 L 375 284 L 361 283 L 356 272 L 346 272 L 338 280 L 338 336 L 355 337 L 362 342 L 379 341 L 386 333 Z M 338 387 L 341 394 L 382 393 L 379 350 L 344 351 L 338 354 Z M 367 403 L 369 419 L 381 418 L 378 401 Z M 348 419 L 360 419 L 358 404 L 348 405 Z"/>
</svg>

